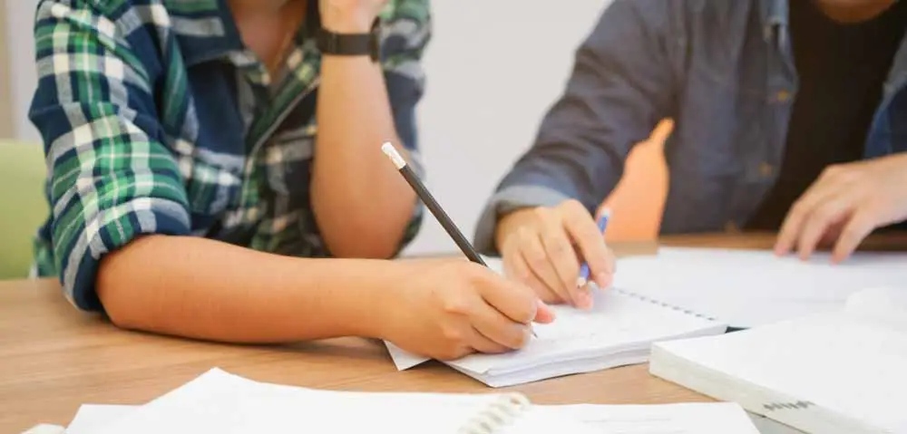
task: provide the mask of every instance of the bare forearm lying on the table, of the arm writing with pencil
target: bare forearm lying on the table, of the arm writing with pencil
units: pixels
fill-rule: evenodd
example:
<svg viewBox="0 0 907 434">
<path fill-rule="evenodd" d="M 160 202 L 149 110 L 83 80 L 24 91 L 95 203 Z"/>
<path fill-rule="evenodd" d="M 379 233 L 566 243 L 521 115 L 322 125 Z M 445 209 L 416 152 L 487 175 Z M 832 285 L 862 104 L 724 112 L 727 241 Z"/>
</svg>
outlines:
<svg viewBox="0 0 907 434">
<path fill-rule="evenodd" d="M 104 257 L 97 291 L 128 329 L 222 342 L 379 337 L 375 265 L 146 236 Z"/>
</svg>

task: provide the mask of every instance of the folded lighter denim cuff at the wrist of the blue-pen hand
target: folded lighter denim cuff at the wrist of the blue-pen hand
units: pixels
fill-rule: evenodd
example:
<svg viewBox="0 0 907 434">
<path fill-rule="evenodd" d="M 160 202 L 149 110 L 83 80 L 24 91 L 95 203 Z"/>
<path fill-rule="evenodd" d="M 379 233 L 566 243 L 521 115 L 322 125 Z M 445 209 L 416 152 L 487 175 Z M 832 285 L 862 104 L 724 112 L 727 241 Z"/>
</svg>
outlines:
<svg viewBox="0 0 907 434">
<path fill-rule="evenodd" d="M 485 256 L 499 256 L 494 246 L 494 233 L 503 215 L 524 207 L 556 207 L 570 199 L 558 190 L 541 186 L 503 188 L 494 194 L 479 217 L 474 237 L 476 250 Z"/>
</svg>

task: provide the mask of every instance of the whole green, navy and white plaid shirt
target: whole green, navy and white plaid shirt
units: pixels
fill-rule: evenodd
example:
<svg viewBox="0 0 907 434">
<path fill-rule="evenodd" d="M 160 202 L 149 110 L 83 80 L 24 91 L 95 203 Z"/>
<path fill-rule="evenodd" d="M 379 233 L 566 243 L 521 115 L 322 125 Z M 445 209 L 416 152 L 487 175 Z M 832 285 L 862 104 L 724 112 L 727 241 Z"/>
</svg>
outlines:
<svg viewBox="0 0 907 434">
<path fill-rule="evenodd" d="M 33 274 L 57 275 L 73 304 L 100 310 L 100 258 L 141 234 L 329 256 L 308 192 L 320 70 L 317 1 L 309 5 L 272 78 L 224 0 L 42 1 L 30 117 L 44 140 L 52 212 Z M 417 159 L 428 0 L 393 0 L 382 18 L 395 126 Z"/>
</svg>

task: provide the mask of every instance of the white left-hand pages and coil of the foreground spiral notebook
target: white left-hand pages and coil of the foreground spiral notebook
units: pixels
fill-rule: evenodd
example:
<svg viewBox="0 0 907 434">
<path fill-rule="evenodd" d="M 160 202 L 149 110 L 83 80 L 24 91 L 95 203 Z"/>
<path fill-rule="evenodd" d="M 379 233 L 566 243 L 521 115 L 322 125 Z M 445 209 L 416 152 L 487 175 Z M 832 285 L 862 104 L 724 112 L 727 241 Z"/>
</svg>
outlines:
<svg viewBox="0 0 907 434">
<path fill-rule="evenodd" d="M 322 391 L 214 369 L 145 405 L 118 408 L 116 417 L 102 425 L 83 420 L 67 434 L 594 433 L 576 420 L 535 409 L 516 393 Z"/>
</svg>

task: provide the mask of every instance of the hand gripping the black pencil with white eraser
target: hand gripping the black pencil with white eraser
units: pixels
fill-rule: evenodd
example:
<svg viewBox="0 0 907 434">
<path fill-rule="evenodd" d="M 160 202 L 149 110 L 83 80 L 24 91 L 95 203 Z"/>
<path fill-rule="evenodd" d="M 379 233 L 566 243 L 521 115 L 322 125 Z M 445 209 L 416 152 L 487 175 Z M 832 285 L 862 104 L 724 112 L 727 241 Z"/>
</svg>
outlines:
<svg viewBox="0 0 907 434">
<path fill-rule="evenodd" d="M 508 352 L 554 313 L 532 289 L 464 260 L 400 261 L 403 278 L 380 303 L 386 340 L 439 360 Z"/>
</svg>

